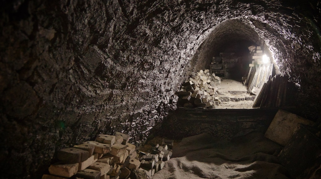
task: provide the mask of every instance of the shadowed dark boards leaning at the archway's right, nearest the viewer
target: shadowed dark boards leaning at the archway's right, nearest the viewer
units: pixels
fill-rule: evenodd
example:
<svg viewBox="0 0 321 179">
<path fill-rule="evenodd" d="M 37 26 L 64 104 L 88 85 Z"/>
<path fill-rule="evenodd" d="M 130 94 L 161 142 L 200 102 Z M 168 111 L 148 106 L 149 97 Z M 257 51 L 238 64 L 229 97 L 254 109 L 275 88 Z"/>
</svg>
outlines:
<svg viewBox="0 0 321 179">
<path fill-rule="evenodd" d="M 282 107 L 286 105 L 288 76 L 275 75 L 266 81 L 254 99 L 253 107 Z"/>
</svg>

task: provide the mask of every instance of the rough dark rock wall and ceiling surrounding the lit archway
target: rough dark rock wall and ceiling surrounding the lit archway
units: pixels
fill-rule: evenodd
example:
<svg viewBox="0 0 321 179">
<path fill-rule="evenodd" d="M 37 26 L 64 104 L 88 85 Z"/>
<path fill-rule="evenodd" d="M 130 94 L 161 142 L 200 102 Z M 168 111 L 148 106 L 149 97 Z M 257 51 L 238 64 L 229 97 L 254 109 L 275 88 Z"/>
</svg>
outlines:
<svg viewBox="0 0 321 179">
<path fill-rule="evenodd" d="M 175 109 L 192 65 L 206 63 L 191 61 L 197 49 L 232 18 L 264 40 L 280 71 L 301 85 L 299 99 L 310 105 L 302 109 L 317 114 L 320 3 L 311 2 L 310 14 L 309 6 L 257 0 L 2 1 L 3 178 L 39 178 L 55 151 L 99 133 L 146 137 Z"/>
</svg>

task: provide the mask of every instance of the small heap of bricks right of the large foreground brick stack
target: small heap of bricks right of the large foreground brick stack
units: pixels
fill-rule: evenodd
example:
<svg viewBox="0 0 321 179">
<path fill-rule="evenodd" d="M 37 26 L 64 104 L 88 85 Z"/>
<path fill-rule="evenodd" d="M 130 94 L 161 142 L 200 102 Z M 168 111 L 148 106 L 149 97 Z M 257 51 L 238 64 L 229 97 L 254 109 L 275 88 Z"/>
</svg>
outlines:
<svg viewBox="0 0 321 179">
<path fill-rule="evenodd" d="M 139 159 L 141 162 L 139 170 L 143 170 L 150 177 L 161 170 L 165 165 L 164 161 L 169 160 L 173 154 L 173 142 L 163 139 L 162 146 L 157 144 L 150 153 L 141 152 L 143 156 Z"/>
</svg>

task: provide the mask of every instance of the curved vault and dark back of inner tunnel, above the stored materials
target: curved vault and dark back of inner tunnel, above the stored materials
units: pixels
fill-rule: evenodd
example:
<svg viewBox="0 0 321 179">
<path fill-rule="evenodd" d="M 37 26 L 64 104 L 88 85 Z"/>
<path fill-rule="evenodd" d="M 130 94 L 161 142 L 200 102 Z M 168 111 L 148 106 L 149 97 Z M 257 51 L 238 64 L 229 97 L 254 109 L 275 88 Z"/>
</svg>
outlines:
<svg viewBox="0 0 321 179">
<path fill-rule="evenodd" d="M 212 57 L 219 56 L 220 52 L 234 52 L 235 56 L 243 58 L 239 58 L 239 66 L 231 78 L 240 81 L 242 76 L 246 75 L 248 64 L 252 63 L 252 60 L 248 59 L 249 50 L 247 48 L 251 45 L 261 46 L 264 53 L 271 57 L 264 40 L 252 27 L 240 19 L 223 21 L 213 28 L 213 31 L 197 49 L 187 75 L 190 75 L 191 72 L 208 69 Z M 273 70 L 274 75 L 275 69 Z"/>
</svg>

